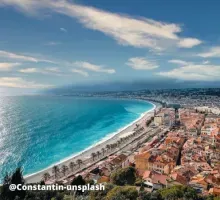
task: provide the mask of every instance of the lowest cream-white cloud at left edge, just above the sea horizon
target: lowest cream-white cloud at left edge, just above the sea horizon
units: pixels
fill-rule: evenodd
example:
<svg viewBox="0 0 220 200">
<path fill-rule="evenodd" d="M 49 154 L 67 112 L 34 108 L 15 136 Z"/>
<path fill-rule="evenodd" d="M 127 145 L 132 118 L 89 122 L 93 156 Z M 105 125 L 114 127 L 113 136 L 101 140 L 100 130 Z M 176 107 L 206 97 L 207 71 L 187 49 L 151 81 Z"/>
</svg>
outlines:
<svg viewBox="0 0 220 200">
<path fill-rule="evenodd" d="M 26 81 L 20 77 L 0 77 L 1 87 L 12 88 L 49 88 L 52 85 L 38 84 L 34 81 Z"/>
</svg>

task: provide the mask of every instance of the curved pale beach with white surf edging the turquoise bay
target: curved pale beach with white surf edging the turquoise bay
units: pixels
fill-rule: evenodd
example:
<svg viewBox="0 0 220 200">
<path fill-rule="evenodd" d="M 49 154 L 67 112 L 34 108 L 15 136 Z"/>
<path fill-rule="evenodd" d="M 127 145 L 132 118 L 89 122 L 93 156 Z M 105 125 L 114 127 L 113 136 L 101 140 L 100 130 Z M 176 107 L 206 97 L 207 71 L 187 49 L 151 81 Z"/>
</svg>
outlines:
<svg viewBox="0 0 220 200">
<path fill-rule="evenodd" d="M 136 100 L 141 100 L 141 101 L 145 101 L 142 99 L 136 99 Z M 48 172 L 49 174 L 52 174 L 52 167 L 54 165 L 61 167 L 62 165 L 69 165 L 70 162 L 76 162 L 76 160 L 78 159 L 87 159 L 90 157 L 92 152 L 97 152 L 98 150 L 101 150 L 101 148 L 105 148 L 107 144 L 111 144 L 116 142 L 120 136 L 122 136 L 123 134 L 125 134 L 126 132 L 131 132 L 134 130 L 134 128 L 136 127 L 136 124 L 142 124 L 144 123 L 146 120 L 148 120 L 152 114 L 154 114 L 154 110 L 157 109 L 159 107 L 159 104 L 157 103 L 153 103 L 151 101 L 147 101 L 148 103 L 153 105 L 153 108 L 151 108 L 150 110 L 144 112 L 141 114 L 141 116 L 139 118 L 137 118 L 136 120 L 132 121 L 131 123 L 129 123 L 128 125 L 126 125 L 123 128 L 120 128 L 118 131 L 110 133 L 108 135 L 106 135 L 104 138 L 102 138 L 101 140 L 95 142 L 93 145 L 87 147 L 85 150 L 79 152 L 79 153 L 75 153 L 69 157 L 66 157 L 64 159 L 62 159 L 61 161 L 57 162 L 57 163 L 53 163 L 51 164 L 49 167 L 37 171 L 35 173 L 32 174 L 27 174 L 24 176 L 25 181 L 27 183 L 36 183 L 36 182 L 40 182 L 42 180 L 43 175 Z"/>
</svg>

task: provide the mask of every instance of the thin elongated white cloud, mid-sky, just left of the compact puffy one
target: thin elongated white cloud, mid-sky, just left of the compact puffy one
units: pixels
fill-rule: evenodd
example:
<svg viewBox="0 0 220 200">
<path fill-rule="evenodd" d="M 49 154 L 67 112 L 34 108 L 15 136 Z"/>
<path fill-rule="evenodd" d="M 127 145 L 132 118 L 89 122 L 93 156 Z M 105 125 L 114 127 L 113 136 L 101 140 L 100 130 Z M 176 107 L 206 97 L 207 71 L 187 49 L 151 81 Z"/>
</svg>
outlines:
<svg viewBox="0 0 220 200">
<path fill-rule="evenodd" d="M 115 73 L 114 69 L 106 69 L 106 68 L 103 68 L 102 66 L 94 65 L 88 62 L 83 62 L 83 61 L 74 62 L 73 65 L 82 67 L 84 69 L 88 69 L 90 71 L 95 71 L 95 72 L 103 72 L 103 73 L 108 73 L 108 74 Z"/>
</svg>

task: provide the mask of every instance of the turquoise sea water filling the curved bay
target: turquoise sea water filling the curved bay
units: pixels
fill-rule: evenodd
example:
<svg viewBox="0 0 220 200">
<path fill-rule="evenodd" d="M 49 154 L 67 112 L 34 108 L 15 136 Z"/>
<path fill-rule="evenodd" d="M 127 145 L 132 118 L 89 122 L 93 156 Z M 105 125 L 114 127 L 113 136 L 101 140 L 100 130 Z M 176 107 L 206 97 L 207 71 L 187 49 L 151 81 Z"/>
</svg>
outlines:
<svg viewBox="0 0 220 200">
<path fill-rule="evenodd" d="M 57 96 L 0 97 L 0 179 L 42 170 L 117 132 L 153 105 Z"/>
</svg>

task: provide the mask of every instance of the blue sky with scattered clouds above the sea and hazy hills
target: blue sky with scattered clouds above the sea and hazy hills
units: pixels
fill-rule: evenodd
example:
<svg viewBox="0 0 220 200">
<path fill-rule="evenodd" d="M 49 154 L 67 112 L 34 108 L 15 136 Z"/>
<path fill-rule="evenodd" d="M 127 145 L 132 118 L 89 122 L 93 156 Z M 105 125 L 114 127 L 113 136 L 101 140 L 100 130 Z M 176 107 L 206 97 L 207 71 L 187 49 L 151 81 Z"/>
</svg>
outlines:
<svg viewBox="0 0 220 200">
<path fill-rule="evenodd" d="M 0 95 L 220 82 L 216 0 L 0 0 Z"/>
</svg>

